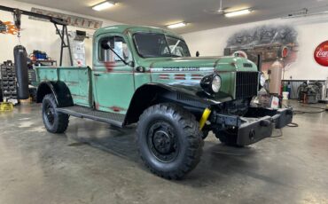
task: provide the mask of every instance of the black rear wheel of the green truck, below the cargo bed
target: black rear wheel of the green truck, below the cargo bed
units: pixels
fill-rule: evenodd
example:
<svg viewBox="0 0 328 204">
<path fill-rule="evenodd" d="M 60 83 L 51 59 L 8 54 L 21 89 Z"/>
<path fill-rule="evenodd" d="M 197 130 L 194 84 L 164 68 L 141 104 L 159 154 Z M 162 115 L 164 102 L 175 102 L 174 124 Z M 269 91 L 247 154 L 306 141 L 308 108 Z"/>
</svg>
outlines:
<svg viewBox="0 0 328 204">
<path fill-rule="evenodd" d="M 61 114 L 56 111 L 57 102 L 53 94 L 48 94 L 43 98 L 43 124 L 45 129 L 51 133 L 63 133 L 68 127 L 68 114 Z"/>
</svg>

